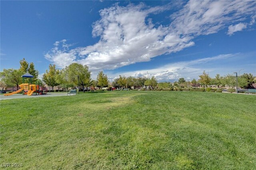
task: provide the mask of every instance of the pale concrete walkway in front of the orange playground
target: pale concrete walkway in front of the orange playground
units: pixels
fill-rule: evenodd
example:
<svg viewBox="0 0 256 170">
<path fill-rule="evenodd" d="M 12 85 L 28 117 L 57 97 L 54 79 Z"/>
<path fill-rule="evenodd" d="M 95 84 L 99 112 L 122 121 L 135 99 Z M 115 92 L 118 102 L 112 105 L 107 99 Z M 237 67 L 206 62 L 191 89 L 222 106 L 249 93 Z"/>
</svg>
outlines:
<svg viewBox="0 0 256 170">
<path fill-rule="evenodd" d="M 21 95 L 21 94 L 14 94 L 10 96 L 0 95 L 0 100 L 6 99 L 23 99 L 23 98 L 34 98 L 34 97 L 56 97 L 56 96 L 66 96 L 67 93 L 47 93 L 47 95 Z"/>
</svg>

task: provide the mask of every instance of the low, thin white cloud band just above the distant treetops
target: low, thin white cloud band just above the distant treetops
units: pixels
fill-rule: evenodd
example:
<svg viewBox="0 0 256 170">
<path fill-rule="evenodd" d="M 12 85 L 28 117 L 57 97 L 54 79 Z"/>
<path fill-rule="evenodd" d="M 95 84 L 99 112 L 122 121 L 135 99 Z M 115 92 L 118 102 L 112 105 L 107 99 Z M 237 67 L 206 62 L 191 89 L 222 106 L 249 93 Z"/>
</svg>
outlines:
<svg viewBox="0 0 256 170">
<path fill-rule="evenodd" d="M 175 80 L 178 80 L 180 77 L 185 77 L 185 79 L 193 79 L 193 78 L 198 79 L 198 76 L 197 77 L 195 76 L 202 74 L 204 70 L 207 70 L 210 72 L 220 71 L 218 68 L 216 68 L 216 65 L 212 67 L 207 66 L 207 69 L 204 67 L 204 65 L 211 64 L 212 62 L 220 62 L 220 61 L 223 62 L 224 60 L 232 59 L 238 56 L 240 56 L 240 53 L 223 54 L 223 55 L 217 55 L 214 57 L 207 57 L 207 58 L 195 59 L 190 61 L 170 63 L 154 69 L 142 69 L 142 70 L 136 70 L 136 71 L 120 72 L 120 73 L 112 73 L 110 71 L 110 72 L 107 72 L 107 75 L 112 80 L 115 77 L 118 77 L 118 75 L 124 75 L 126 77 L 128 76 L 147 77 L 147 73 L 149 74 L 149 77 L 155 76 L 158 81 L 175 81 Z"/>
</svg>

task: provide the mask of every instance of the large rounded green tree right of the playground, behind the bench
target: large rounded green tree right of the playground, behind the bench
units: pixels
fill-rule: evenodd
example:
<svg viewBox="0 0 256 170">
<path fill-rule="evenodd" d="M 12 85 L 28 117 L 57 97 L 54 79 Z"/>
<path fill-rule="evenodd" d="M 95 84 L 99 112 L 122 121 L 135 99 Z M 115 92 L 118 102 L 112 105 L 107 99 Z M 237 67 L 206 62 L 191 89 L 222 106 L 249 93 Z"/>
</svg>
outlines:
<svg viewBox="0 0 256 170">
<path fill-rule="evenodd" d="M 69 82 L 74 84 L 82 85 L 83 91 L 85 92 L 85 87 L 90 85 L 91 82 L 91 72 L 87 65 L 82 65 L 79 63 L 72 63 L 66 67 L 66 73 L 68 75 Z M 79 75 L 79 82 L 78 76 Z"/>
</svg>

